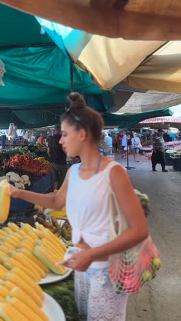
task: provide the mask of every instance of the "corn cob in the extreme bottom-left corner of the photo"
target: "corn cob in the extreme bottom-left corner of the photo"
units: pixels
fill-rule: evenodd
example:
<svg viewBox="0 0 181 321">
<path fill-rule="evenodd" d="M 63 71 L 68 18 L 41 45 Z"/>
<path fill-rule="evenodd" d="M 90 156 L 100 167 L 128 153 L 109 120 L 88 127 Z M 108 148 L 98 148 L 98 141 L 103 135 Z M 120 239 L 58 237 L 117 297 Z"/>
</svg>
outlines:
<svg viewBox="0 0 181 321">
<path fill-rule="evenodd" d="M 10 305 L 8 302 L 1 303 L 0 318 L 2 318 L 4 321 L 27 321 L 27 318 L 25 318 L 21 312 L 12 307 L 12 305 Z"/>
</svg>

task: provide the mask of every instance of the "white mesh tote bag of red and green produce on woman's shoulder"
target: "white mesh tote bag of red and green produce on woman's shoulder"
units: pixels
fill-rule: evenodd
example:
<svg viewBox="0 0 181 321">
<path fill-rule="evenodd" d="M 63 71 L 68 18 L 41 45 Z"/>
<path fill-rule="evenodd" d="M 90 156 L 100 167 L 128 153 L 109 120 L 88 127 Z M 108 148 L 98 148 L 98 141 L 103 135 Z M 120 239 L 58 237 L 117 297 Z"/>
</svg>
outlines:
<svg viewBox="0 0 181 321">
<path fill-rule="evenodd" d="M 110 227 L 111 239 L 128 229 L 128 222 L 113 193 L 110 195 Z M 117 293 L 135 294 L 156 276 L 160 265 L 160 254 L 149 236 L 129 250 L 110 255 L 110 281 Z"/>
</svg>

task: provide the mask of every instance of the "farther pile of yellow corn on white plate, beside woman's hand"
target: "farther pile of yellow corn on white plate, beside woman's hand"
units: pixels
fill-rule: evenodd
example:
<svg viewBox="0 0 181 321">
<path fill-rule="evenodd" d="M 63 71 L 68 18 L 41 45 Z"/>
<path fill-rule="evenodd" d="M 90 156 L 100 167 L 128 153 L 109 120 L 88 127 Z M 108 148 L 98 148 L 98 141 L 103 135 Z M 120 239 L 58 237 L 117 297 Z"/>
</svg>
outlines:
<svg viewBox="0 0 181 321">
<path fill-rule="evenodd" d="M 47 272 L 66 274 L 67 268 L 55 265 L 63 261 L 66 252 L 64 243 L 47 228 L 36 224 L 8 224 L 0 230 L 0 264 L 8 270 L 20 268 L 35 282 L 44 278 Z"/>
</svg>

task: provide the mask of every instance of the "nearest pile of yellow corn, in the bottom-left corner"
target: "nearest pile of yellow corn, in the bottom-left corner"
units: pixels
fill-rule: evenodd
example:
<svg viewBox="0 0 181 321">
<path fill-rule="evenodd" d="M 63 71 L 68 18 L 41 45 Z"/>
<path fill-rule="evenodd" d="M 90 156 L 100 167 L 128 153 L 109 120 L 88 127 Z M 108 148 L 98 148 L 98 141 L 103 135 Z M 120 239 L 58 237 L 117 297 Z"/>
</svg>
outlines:
<svg viewBox="0 0 181 321">
<path fill-rule="evenodd" d="M 43 307 L 43 290 L 20 268 L 0 265 L 0 320 L 48 321 Z"/>
</svg>

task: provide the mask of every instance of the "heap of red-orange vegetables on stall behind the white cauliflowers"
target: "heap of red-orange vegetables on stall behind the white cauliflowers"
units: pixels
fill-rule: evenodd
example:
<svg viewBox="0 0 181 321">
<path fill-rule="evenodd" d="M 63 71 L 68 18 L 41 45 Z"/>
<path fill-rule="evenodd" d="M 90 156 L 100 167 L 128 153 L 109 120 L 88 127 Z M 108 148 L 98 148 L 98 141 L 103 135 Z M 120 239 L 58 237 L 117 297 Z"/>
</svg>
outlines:
<svg viewBox="0 0 181 321">
<path fill-rule="evenodd" d="M 39 162 L 38 160 L 34 160 L 31 155 L 27 154 L 16 154 L 12 156 L 10 160 L 5 162 L 4 166 L 20 167 L 35 174 L 39 173 L 40 175 L 48 175 L 51 173 L 51 167 L 49 165 Z"/>
</svg>

